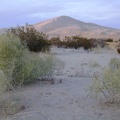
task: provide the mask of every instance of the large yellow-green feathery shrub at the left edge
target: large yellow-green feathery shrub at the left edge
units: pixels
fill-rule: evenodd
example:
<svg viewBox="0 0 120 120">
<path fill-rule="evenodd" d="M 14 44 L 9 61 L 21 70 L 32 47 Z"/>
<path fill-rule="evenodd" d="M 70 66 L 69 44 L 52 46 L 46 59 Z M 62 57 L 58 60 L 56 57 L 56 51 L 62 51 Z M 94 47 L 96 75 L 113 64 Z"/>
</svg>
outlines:
<svg viewBox="0 0 120 120">
<path fill-rule="evenodd" d="M 53 66 L 52 60 L 51 55 L 39 57 L 38 54 L 31 53 L 18 37 L 0 37 L 0 70 L 3 74 L 0 79 L 7 79 L 12 86 L 32 82 L 47 74 Z"/>
</svg>

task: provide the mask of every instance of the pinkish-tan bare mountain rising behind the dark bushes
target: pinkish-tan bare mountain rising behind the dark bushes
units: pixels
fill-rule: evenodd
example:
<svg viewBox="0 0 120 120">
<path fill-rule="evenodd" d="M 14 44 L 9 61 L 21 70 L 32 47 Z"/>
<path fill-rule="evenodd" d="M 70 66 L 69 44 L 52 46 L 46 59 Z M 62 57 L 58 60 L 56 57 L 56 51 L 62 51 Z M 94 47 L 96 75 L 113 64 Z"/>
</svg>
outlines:
<svg viewBox="0 0 120 120">
<path fill-rule="evenodd" d="M 68 16 L 60 16 L 33 25 L 36 30 L 43 31 L 50 37 L 79 35 L 87 38 L 120 38 L 120 29 L 85 23 Z"/>
</svg>

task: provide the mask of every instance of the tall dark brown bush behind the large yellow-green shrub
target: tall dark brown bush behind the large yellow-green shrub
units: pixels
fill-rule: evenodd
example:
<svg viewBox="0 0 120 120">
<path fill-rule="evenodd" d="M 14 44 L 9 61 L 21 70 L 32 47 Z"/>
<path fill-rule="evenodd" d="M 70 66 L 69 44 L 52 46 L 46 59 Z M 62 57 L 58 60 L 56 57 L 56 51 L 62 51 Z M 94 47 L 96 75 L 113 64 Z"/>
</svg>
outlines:
<svg viewBox="0 0 120 120">
<path fill-rule="evenodd" d="M 11 28 L 7 31 L 7 34 L 11 33 L 19 37 L 22 44 L 27 45 L 30 51 L 46 52 L 50 50 L 48 36 L 43 32 L 35 30 L 32 25 L 26 24 L 26 26 Z"/>
</svg>

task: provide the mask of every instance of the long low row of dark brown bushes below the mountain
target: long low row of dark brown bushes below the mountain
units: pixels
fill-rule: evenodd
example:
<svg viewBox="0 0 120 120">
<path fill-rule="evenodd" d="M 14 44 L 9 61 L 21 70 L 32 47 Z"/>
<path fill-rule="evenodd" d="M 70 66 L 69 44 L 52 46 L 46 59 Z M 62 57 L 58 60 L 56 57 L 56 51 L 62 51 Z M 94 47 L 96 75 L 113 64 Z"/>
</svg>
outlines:
<svg viewBox="0 0 120 120">
<path fill-rule="evenodd" d="M 109 40 L 99 40 L 95 38 L 85 38 L 80 36 L 65 36 L 64 39 L 61 40 L 60 37 L 53 37 L 50 40 L 50 43 L 54 46 L 57 46 L 58 48 L 74 48 L 78 49 L 80 47 L 83 47 L 85 50 L 95 48 L 97 46 L 105 47 L 107 46 L 106 41 Z M 110 39 L 111 41 L 111 39 Z"/>
</svg>

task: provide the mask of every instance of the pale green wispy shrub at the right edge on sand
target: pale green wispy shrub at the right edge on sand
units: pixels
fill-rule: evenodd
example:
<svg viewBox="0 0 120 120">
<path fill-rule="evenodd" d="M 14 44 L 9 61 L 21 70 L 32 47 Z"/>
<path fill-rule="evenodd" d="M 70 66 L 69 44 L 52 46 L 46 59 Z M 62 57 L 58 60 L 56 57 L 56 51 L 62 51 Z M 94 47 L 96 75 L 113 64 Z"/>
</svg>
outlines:
<svg viewBox="0 0 120 120">
<path fill-rule="evenodd" d="M 112 58 L 101 77 L 94 76 L 89 89 L 96 98 L 106 102 L 120 102 L 120 60 Z"/>
</svg>

